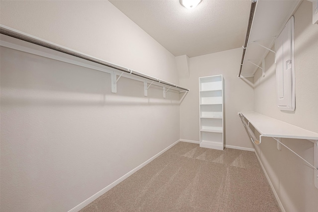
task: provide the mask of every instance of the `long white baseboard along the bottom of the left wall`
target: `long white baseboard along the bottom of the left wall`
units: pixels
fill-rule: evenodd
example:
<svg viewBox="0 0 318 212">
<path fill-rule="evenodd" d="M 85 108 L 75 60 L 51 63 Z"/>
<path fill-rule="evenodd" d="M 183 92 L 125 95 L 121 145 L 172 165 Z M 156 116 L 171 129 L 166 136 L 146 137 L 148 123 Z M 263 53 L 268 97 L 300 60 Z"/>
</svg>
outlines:
<svg viewBox="0 0 318 212">
<path fill-rule="evenodd" d="M 172 143 L 171 145 L 169 145 L 168 147 L 166 147 L 165 149 L 163 149 L 162 151 L 160 151 L 158 154 L 156 154 L 155 156 L 151 157 L 150 159 L 148 159 L 147 161 L 145 161 L 144 163 L 140 164 L 139 166 L 137 166 L 136 168 L 134 168 L 133 170 L 131 170 L 130 172 L 128 172 L 127 174 L 125 174 L 124 176 L 122 176 L 121 178 L 119 178 L 118 180 L 116 180 L 115 182 L 111 183 L 110 185 L 106 186 L 105 188 L 103 188 L 102 190 L 100 190 L 99 192 L 97 192 L 96 194 L 94 194 L 93 196 L 91 196 L 90 198 L 88 198 L 87 200 L 85 200 L 84 202 L 80 203 L 79 205 L 77 205 L 76 207 L 74 207 L 73 209 L 71 209 L 68 212 L 78 212 L 79 210 L 83 209 L 85 206 L 87 206 L 88 204 L 90 204 L 91 202 L 93 202 L 94 200 L 96 200 L 99 196 L 105 194 L 107 191 L 109 191 L 110 189 L 112 189 L 114 186 L 116 186 L 117 184 L 119 184 L 120 182 L 122 182 L 123 180 L 125 180 L 126 178 L 128 178 L 130 175 L 134 174 L 136 171 L 138 171 L 139 169 L 141 169 L 142 167 L 146 166 L 148 163 L 150 163 L 151 161 L 153 161 L 154 159 L 156 159 L 159 155 L 161 155 L 163 152 L 165 152 L 166 150 L 168 150 L 169 148 L 171 148 L 172 146 L 174 146 L 175 144 L 177 144 L 180 140 L 175 141 L 174 143 Z"/>
</svg>

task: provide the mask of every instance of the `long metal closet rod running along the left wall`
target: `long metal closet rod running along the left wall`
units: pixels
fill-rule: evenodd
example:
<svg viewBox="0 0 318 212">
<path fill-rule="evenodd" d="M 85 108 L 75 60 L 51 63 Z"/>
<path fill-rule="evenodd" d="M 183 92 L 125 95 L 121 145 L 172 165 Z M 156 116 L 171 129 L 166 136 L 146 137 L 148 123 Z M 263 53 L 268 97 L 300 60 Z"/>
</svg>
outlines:
<svg viewBox="0 0 318 212">
<path fill-rule="evenodd" d="M 152 76 L 140 73 L 138 71 L 133 71 L 133 70 L 130 70 L 130 69 L 127 69 L 127 68 L 124 68 L 124 67 L 121 67 L 121 66 L 118 66 L 118 65 L 115 65 L 115 64 L 108 63 L 106 61 L 98 60 L 96 58 L 80 54 L 78 52 L 75 52 L 75 51 L 72 51 L 72 50 L 69 50 L 69 49 L 54 45 L 52 43 L 48 43 L 48 42 L 45 42 L 43 40 L 39 40 L 39 39 L 30 37 L 28 35 L 25 35 L 25 34 L 22 34 L 22 33 L 7 29 L 7 28 L 5 28 L 3 26 L 0 26 L 0 34 L 7 35 L 7 36 L 10 36 L 10 37 L 13 37 L 13 38 L 17 38 L 19 40 L 23 40 L 23 41 L 26 41 L 26 42 L 29 42 L 29 43 L 33 43 L 33 44 L 36 44 L 36 45 L 39 45 L 39 46 L 43 46 L 43 47 L 46 47 L 46 48 L 49 48 L 49 49 L 53 49 L 53 50 L 58 51 L 58 52 L 62 52 L 62 53 L 68 54 L 68 55 L 72 55 L 72 56 L 75 56 L 75 57 L 78 57 L 78 58 L 81 58 L 81 59 L 84 59 L 84 60 L 87 60 L 87 61 L 94 62 L 96 64 L 107 66 L 107 67 L 110 67 L 110 68 L 113 68 L 113 69 L 116 69 L 116 70 L 119 70 L 119 71 L 123 71 L 123 72 L 129 73 L 129 74 L 133 74 L 133 75 L 139 76 L 139 77 L 143 77 L 143 78 L 146 78 L 146 79 L 149 79 L 149 80 L 161 83 L 161 84 L 165 84 L 165 85 L 168 85 L 168 86 L 171 86 L 171 87 L 175 87 L 175 88 L 178 88 L 178 89 L 181 89 L 181 90 L 189 91 L 189 89 L 187 89 L 187 88 L 180 87 L 180 86 L 172 84 L 170 82 L 166 82 L 166 81 L 163 81 L 161 79 L 157 79 L 157 78 L 154 78 Z"/>
</svg>

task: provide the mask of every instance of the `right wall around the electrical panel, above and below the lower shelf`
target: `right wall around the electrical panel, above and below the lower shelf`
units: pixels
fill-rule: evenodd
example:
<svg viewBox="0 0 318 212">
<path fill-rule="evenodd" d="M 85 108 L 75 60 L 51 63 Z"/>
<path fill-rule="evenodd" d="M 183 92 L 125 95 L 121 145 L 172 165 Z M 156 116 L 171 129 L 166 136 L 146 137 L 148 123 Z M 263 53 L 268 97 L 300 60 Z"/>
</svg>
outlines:
<svg viewBox="0 0 318 212">
<path fill-rule="evenodd" d="M 280 111 L 276 101 L 274 54 L 265 59 L 265 77 L 257 71 L 255 80 L 255 112 L 318 133 L 318 25 L 312 24 L 312 2 L 303 1 L 295 13 L 296 109 Z M 307 140 L 282 141 L 314 164 L 314 143 Z M 263 138 L 255 146 L 263 166 L 286 212 L 313 212 L 318 209 L 318 189 L 314 185 L 314 169 L 276 141 Z"/>
</svg>

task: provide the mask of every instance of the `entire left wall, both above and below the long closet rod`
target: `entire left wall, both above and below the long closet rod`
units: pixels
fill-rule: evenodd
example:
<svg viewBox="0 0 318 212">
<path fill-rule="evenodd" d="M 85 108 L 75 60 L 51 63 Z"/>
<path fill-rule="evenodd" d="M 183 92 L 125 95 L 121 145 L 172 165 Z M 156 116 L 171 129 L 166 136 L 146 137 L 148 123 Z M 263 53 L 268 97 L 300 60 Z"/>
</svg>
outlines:
<svg viewBox="0 0 318 212">
<path fill-rule="evenodd" d="M 1 1 L 1 24 L 178 83 L 174 56 L 108 1 Z M 3 38 L 3 36 L 2 36 Z M 179 93 L 0 49 L 1 211 L 69 211 L 179 139 Z M 150 67 L 152 67 L 150 69 Z"/>
</svg>

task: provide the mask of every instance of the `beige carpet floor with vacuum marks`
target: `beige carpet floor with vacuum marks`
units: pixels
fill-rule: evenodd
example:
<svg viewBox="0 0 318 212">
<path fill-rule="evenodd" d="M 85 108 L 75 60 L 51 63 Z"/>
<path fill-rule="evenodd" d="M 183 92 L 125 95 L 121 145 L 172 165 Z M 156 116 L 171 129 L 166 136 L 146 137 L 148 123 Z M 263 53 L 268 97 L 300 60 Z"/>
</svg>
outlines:
<svg viewBox="0 0 318 212">
<path fill-rule="evenodd" d="M 280 212 L 254 152 L 179 142 L 81 212 Z"/>
</svg>

